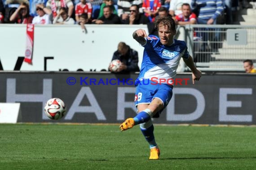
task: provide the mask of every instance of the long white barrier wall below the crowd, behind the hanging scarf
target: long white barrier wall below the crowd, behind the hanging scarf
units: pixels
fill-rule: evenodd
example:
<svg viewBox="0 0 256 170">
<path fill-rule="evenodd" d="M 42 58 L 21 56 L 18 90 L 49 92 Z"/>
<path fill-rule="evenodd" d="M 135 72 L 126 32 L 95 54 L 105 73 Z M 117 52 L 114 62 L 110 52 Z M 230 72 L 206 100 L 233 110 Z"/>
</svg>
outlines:
<svg viewBox="0 0 256 170">
<path fill-rule="evenodd" d="M 54 57 L 47 60 L 47 71 L 107 70 L 121 41 L 138 51 L 141 67 L 144 48 L 132 38 L 132 33 L 139 28 L 148 32 L 146 25 L 86 27 L 87 34 L 78 25 L 35 25 L 32 65 L 23 62 L 20 70 L 44 71 L 45 57 Z M 0 61 L 5 71 L 12 71 L 18 56 L 25 56 L 26 25 L 0 24 L 0 33 Z M 181 67 L 178 71 L 182 71 Z"/>
</svg>

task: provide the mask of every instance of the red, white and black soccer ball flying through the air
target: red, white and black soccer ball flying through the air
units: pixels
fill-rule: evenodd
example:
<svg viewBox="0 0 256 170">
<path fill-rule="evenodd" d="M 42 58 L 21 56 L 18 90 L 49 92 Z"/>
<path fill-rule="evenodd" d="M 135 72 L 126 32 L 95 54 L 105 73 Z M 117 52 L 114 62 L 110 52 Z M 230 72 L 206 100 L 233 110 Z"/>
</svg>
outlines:
<svg viewBox="0 0 256 170">
<path fill-rule="evenodd" d="M 66 114 L 65 103 L 59 98 L 51 98 L 44 106 L 44 113 L 50 119 L 61 119 Z"/>
</svg>

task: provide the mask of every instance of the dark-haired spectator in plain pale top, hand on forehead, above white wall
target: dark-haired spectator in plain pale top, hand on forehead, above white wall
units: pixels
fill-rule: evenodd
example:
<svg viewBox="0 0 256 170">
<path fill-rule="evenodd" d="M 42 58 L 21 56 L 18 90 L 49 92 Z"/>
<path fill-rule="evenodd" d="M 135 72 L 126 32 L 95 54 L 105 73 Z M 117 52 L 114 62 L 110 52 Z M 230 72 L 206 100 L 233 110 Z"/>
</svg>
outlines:
<svg viewBox="0 0 256 170">
<path fill-rule="evenodd" d="M 53 19 L 53 24 L 75 24 L 75 20 L 68 16 L 66 8 L 61 8 L 57 16 Z"/>
</svg>

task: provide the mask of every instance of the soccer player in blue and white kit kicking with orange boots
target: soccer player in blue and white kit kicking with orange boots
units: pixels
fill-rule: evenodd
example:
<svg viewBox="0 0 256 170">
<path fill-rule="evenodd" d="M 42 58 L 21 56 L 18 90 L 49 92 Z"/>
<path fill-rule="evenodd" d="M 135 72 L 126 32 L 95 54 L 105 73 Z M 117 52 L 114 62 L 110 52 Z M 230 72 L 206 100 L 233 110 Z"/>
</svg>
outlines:
<svg viewBox="0 0 256 170">
<path fill-rule="evenodd" d="M 192 71 L 193 84 L 195 80 L 199 81 L 202 74 L 195 67 L 185 42 L 173 39 L 176 34 L 175 21 L 171 17 L 159 17 L 155 21 L 155 27 L 158 29 L 159 37 L 147 36 L 146 31 L 142 29 L 132 34 L 145 48 L 135 94 L 138 114 L 134 118 L 126 119 L 119 126 L 120 130 L 124 131 L 140 124 L 141 132 L 150 145 L 149 159 L 159 159 L 160 155 L 154 139 L 151 118 L 159 117 L 172 98 L 173 82 L 166 81 L 176 76 L 181 57 Z M 163 82 L 164 80 L 166 81 Z"/>
</svg>

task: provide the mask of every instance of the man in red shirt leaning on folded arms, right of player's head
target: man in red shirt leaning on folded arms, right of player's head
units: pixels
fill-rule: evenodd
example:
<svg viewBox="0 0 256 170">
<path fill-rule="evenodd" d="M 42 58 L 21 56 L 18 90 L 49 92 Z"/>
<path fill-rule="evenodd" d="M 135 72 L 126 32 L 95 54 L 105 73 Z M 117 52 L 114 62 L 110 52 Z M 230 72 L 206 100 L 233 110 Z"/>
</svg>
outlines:
<svg viewBox="0 0 256 170">
<path fill-rule="evenodd" d="M 196 24 L 196 15 L 191 13 L 190 4 L 182 4 L 181 11 L 182 13 L 176 15 L 174 18 L 176 25 Z"/>
</svg>

